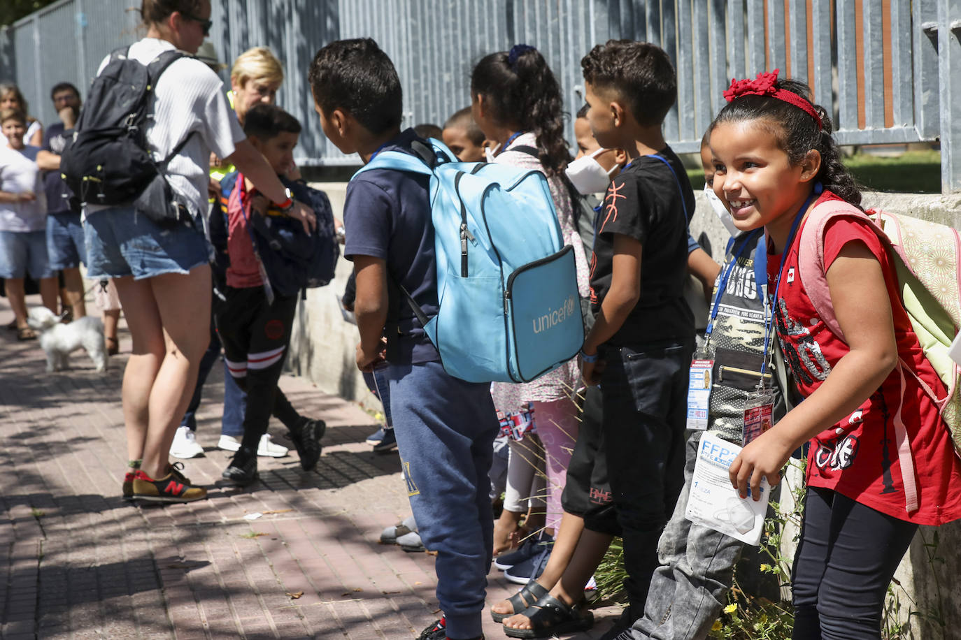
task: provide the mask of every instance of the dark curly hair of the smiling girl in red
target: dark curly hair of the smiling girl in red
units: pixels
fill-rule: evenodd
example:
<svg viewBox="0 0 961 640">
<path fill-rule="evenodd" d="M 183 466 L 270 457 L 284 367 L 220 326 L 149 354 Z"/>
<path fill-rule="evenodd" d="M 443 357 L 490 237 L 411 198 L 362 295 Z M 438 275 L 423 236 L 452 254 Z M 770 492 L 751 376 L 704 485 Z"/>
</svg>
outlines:
<svg viewBox="0 0 961 640">
<path fill-rule="evenodd" d="M 775 86 L 796 93 L 811 103 L 811 107 L 821 116 L 824 129 L 819 129 L 817 121 L 800 107 L 771 96 L 746 95 L 727 103 L 711 123 L 708 132 L 723 122 L 763 120 L 766 128 L 775 134 L 777 146 L 787 154 L 792 165 L 797 166 L 807 152 L 817 150 L 821 154 L 821 170 L 815 181 L 821 182 L 825 189 L 839 198 L 860 207 L 861 189 L 850 175 L 848 167 L 841 162 L 841 150 L 831 135 L 834 126 L 825 107 L 814 104 L 811 89 L 805 83 L 778 79 Z"/>
</svg>

